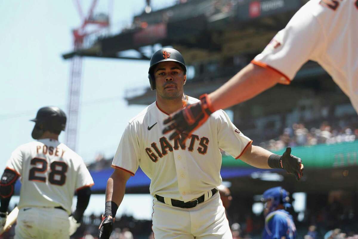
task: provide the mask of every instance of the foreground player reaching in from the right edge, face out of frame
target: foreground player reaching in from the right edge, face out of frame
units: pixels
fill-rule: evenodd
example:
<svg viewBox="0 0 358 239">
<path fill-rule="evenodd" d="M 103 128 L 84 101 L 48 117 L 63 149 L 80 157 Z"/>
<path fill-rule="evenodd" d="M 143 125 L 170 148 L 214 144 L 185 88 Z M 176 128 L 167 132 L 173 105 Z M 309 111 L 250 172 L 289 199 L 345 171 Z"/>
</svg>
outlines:
<svg viewBox="0 0 358 239">
<path fill-rule="evenodd" d="M 169 139 L 182 132 L 190 135 L 214 111 L 251 99 L 277 83 L 289 84 L 308 60 L 332 76 L 358 112 L 357 29 L 358 0 L 308 1 L 248 66 L 203 95 L 202 101 L 167 118 L 163 133 L 175 129 Z"/>
</svg>

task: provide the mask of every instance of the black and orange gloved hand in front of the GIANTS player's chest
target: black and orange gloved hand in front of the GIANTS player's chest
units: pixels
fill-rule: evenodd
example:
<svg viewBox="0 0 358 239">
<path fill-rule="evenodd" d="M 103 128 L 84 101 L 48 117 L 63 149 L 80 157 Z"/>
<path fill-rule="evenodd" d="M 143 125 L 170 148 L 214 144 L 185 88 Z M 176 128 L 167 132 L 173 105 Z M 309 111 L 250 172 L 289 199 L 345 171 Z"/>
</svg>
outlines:
<svg viewBox="0 0 358 239">
<path fill-rule="evenodd" d="M 200 96 L 200 102 L 188 105 L 182 110 L 176 111 L 164 120 L 164 124 L 169 124 L 163 129 L 163 134 L 174 132 L 169 136 L 169 140 L 179 138 L 185 141 L 192 132 L 207 121 L 213 113 L 210 100 L 207 94 Z"/>
</svg>

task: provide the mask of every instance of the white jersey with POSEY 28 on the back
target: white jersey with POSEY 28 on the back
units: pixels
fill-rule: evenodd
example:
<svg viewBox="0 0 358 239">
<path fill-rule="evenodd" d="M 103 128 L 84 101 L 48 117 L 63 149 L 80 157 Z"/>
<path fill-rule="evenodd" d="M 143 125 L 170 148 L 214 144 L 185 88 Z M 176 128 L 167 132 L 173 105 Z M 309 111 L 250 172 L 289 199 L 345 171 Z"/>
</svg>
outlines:
<svg viewBox="0 0 358 239">
<path fill-rule="evenodd" d="M 93 185 L 82 158 L 54 139 L 21 145 L 6 167 L 21 177 L 19 208 L 62 206 L 70 214 L 74 192 Z"/>
</svg>

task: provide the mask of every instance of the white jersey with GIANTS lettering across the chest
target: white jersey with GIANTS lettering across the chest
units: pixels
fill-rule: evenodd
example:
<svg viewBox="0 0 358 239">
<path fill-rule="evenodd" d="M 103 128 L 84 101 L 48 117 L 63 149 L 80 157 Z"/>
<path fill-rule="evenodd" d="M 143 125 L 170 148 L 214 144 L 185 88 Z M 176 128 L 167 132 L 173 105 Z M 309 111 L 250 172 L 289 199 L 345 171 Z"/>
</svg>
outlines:
<svg viewBox="0 0 358 239">
<path fill-rule="evenodd" d="M 188 103 L 198 102 L 188 97 Z M 150 178 L 150 193 L 190 201 L 221 184 L 219 148 L 239 158 L 252 140 L 243 135 L 223 110 L 213 113 L 186 142 L 163 135 L 168 117 L 156 102 L 129 121 L 117 152 L 114 168 L 134 175 L 138 166 Z"/>
</svg>

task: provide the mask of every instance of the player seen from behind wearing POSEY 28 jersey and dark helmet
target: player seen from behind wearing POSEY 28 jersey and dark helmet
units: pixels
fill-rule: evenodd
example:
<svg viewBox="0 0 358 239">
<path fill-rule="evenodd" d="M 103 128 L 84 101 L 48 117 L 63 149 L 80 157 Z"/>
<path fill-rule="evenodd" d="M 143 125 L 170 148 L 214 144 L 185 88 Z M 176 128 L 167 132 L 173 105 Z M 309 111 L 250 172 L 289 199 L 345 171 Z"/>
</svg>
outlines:
<svg viewBox="0 0 358 239">
<path fill-rule="evenodd" d="M 80 225 L 93 180 L 82 158 L 58 142 L 58 135 L 66 126 L 66 115 L 61 109 L 43 107 L 32 121 L 32 138 L 36 141 L 14 150 L 1 177 L 0 226 L 6 222 L 14 185 L 20 177 L 15 239 L 69 238 Z M 69 216 L 75 191 L 77 207 Z"/>
</svg>

